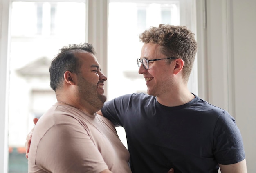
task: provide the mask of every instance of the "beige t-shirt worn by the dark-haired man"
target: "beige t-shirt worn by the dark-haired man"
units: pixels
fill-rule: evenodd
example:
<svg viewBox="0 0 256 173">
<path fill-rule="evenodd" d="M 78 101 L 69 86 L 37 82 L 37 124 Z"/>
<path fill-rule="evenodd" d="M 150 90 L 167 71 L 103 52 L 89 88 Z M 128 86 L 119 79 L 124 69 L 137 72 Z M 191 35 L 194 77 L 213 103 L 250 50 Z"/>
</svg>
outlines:
<svg viewBox="0 0 256 173">
<path fill-rule="evenodd" d="M 56 103 L 36 124 L 29 173 L 131 173 L 129 152 L 112 123 Z"/>
</svg>

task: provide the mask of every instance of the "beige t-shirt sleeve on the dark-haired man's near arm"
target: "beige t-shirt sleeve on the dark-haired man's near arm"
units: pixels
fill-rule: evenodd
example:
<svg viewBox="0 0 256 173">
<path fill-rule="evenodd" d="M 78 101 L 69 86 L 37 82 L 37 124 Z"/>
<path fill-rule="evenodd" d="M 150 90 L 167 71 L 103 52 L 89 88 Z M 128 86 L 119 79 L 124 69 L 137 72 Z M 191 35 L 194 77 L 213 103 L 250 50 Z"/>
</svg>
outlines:
<svg viewBox="0 0 256 173">
<path fill-rule="evenodd" d="M 35 162 L 52 173 L 98 173 L 108 169 L 86 129 L 69 121 L 47 131 L 37 147 Z"/>
</svg>

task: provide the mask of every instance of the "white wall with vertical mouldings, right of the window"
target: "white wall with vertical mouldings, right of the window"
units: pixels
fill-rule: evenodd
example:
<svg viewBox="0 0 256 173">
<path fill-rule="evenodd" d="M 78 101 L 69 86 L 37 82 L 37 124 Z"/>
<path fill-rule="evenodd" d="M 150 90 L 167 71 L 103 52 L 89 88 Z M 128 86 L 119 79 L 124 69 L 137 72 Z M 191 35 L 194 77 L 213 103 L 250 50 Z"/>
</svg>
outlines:
<svg viewBox="0 0 256 173">
<path fill-rule="evenodd" d="M 234 116 L 255 172 L 256 1 L 197 0 L 197 8 L 199 96 Z"/>
</svg>

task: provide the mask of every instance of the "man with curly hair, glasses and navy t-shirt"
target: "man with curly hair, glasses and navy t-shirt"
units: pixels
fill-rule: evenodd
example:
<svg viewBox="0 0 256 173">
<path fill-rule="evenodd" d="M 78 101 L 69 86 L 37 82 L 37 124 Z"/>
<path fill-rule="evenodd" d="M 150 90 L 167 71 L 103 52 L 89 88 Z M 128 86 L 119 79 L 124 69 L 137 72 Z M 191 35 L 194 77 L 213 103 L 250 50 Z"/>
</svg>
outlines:
<svg viewBox="0 0 256 173">
<path fill-rule="evenodd" d="M 246 173 L 245 151 L 234 118 L 187 87 L 197 51 L 186 27 L 160 24 L 139 35 L 137 59 L 148 94 L 104 104 L 101 112 L 126 131 L 133 173 Z"/>
</svg>

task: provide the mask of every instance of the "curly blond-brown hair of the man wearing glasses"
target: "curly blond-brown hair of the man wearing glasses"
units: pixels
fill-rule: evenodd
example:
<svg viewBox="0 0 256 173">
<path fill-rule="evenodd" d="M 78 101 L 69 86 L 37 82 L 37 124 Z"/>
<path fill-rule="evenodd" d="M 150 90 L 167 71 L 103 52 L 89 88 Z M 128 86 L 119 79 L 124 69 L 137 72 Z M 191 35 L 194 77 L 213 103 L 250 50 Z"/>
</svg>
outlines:
<svg viewBox="0 0 256 173">
<path fill-rule="evenodd" d="M 186 26 L 159 24 L 159 27 L 150 27 L 141 33 L 139 39 L 143 43 L 159 44 L 161 53 L 167 57 L 182 59 L 184 61 L 183 78 L 187 82 L 197 51 L 194 35 Z"/>
</svg>

